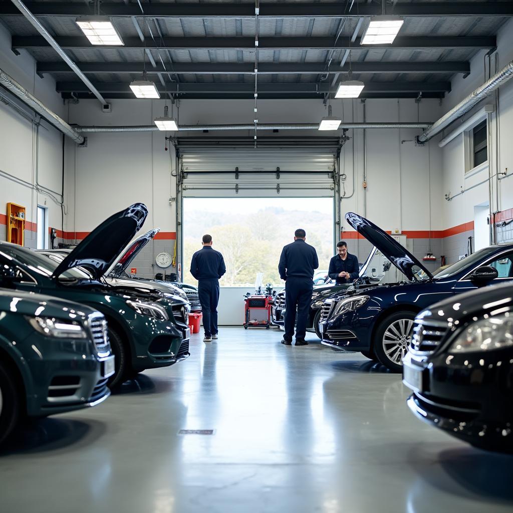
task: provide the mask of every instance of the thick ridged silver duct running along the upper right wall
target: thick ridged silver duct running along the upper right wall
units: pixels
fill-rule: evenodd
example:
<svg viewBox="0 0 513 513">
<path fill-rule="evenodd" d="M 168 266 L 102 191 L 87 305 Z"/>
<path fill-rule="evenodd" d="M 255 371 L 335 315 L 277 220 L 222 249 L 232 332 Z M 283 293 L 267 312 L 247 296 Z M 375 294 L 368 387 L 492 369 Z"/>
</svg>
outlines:
<svg viewBox="0 0 513 513">
<path fill-rule="evenodd" d="M 507 82 L 513 76 L 513 61 L 504 66 L 498 73 L 492 76 L 482 86 L 472 91 L 463 101 L 456 107 L 453 107 L 447 114 L 443 115 L 438 121 L 432 124 L 421 136 L 418 137 L 419 143 L 429 141 L 437 133 L 440 133 L 446 126 L 456 121 L 465 112 L 468 112 L 473 106 L 484 100 L 495 89 Z"/>
</svg>

